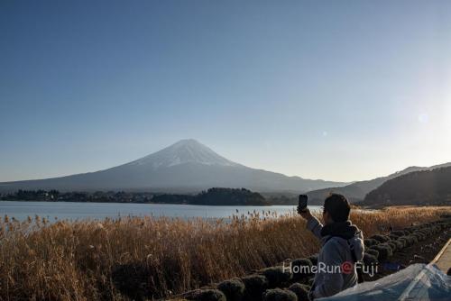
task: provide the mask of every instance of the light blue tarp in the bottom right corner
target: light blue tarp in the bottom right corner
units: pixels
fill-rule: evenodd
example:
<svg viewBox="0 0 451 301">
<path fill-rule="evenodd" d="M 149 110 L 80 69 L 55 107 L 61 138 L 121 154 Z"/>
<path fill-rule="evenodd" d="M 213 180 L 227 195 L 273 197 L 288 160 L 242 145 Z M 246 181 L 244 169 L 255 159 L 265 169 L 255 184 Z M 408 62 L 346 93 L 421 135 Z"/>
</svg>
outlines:
<svg viewBox="0 0 451 301">
<path fill-rule="evenodd" d="M 394 274 L 355 287 L 321 301 L 337 300 L 451 300 L 451 277 L 435 266 L 414 264 Z"/>
</svg>

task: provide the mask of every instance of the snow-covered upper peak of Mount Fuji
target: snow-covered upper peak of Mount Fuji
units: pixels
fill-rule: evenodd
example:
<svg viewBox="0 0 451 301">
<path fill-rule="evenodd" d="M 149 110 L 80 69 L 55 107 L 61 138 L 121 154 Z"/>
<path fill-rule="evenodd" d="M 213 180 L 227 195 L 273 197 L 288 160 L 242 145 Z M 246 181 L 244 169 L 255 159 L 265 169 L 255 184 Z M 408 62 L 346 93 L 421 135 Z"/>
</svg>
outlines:
<svg viewBox="0 0 451 301">
<path fill-rule="evenodd" d="M 226 160 L 204 144 L 194 140 L 180 140 L 169 147 L 152 153 L 149 156 L 130 162 L 131 165 L 150 165 L 153 169 L 170 168 L 172 166 L 197 163 L 216 166 L 239 166 Z"/>
</svg>

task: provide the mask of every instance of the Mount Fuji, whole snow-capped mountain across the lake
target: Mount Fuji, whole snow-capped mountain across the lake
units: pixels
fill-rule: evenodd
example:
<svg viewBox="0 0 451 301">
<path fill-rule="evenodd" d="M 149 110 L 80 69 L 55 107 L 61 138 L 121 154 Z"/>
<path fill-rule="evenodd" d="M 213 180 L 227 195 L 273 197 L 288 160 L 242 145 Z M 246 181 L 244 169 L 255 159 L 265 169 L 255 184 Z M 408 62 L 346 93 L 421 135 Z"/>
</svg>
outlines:
<svg viewBox="0 0 451 301">
<path fill-rule="evenodd" d="M 0 191 L 58 189 L 60 191 L 136 190 L 196 192 L 209 187 L 245 187 L 261 192 L 305 192 L 348 183 L 288 177 L 252 169 L 218 155 L 196 140 L 178 141 L 138 160 L 84 174 L 0 183 Z"/>
</svg>

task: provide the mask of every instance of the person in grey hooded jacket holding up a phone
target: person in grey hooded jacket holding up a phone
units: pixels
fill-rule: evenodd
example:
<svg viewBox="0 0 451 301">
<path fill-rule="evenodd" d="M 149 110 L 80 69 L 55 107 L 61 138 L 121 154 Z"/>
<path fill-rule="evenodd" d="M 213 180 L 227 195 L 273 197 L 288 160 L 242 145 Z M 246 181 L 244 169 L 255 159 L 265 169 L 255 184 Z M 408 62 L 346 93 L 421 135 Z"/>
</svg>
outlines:
<svg viewBox="0 0 451 301">
<path fill-rule="evenodd" d="M 355 263 L 364 258 L 362 232 L 349 221 L 351 206 L 345 196 L 331 194 L 324 201 L 323 220 L 319 223 L 307 207 L 307 196 L 299 196 L 298 213 L 307 220 L 307 228 L 321 241 L 318 269 L 310 299 L 333 296 L 357 284 Z M 326 269 L 320 269 L 323 266 Z M 336 267 L 340 267 L 337 269 Z"/>
</svg>

